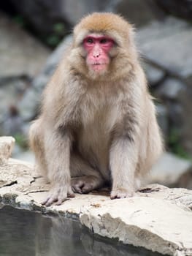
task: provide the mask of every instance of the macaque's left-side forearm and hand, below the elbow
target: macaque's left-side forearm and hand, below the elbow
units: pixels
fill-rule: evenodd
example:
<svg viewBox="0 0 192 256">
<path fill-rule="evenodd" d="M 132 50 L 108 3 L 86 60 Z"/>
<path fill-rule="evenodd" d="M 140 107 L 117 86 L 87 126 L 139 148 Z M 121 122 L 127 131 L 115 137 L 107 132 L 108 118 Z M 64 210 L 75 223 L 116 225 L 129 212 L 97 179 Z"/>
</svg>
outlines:
<svg viewBox="0 0 192 256">
<path fill-rule="evenodd" d="M 60 205 L 66 197 L 74 197 L 70 183 L 70 146 L 69 132 L 62 129 L 45 132 L 45 158 L 47 162 L 47 176 L 50 180 L 51 190 L 49 196 L 42 202 L 50 206 L 56 201 Z"/>
</svg>

